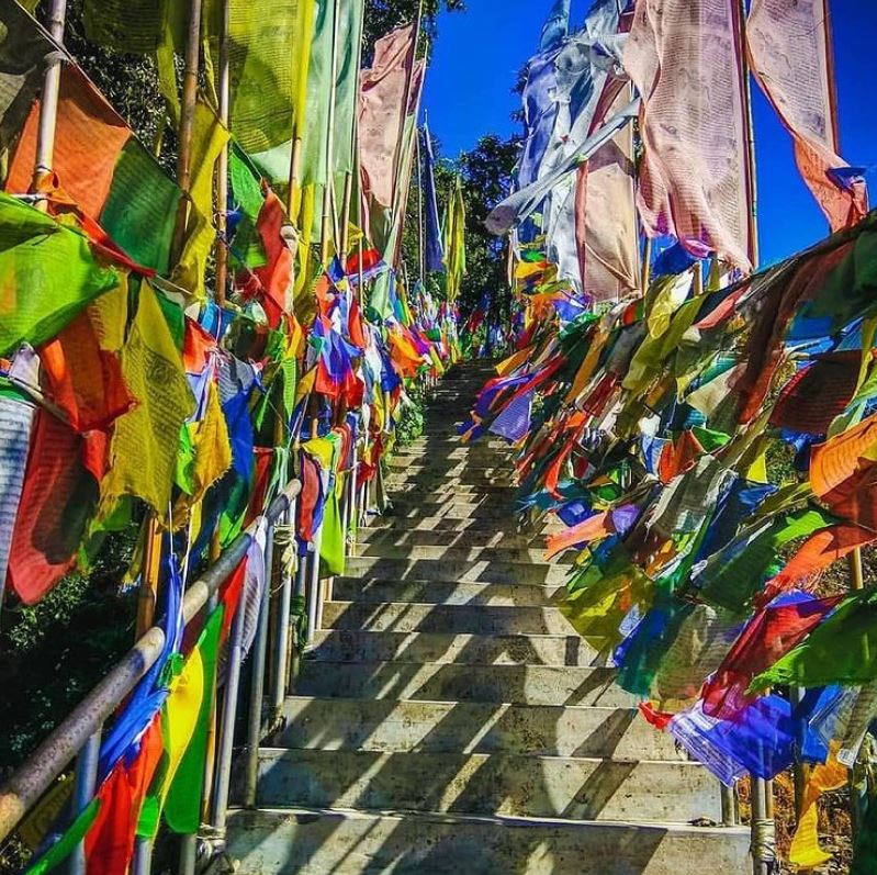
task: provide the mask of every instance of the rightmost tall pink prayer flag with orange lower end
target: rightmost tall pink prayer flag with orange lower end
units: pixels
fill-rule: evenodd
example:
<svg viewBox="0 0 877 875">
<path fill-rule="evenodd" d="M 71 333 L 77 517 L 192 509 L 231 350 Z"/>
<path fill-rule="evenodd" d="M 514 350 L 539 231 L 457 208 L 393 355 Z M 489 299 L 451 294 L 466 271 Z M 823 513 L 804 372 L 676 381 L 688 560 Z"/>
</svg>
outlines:
<svg viewBox="0 0 877 875">
<path fill-rule="evenodd" d="M 746 23 L 752 72 L 795 138 L 795 160 L 832 231 L 868 212 L 864 179 L 834 181 L 837 155 L 828 0 L 753 0 Z"/>
</svg>

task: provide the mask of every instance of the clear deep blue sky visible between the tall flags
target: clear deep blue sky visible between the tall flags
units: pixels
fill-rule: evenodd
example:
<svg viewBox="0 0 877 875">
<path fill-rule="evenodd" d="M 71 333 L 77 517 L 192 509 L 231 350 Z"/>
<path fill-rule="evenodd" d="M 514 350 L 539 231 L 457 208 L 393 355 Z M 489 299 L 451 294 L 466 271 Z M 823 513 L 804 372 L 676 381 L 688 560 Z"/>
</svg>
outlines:
<svg viewBox="0 0 877 875">
<path fill-rule="evenodd" d="M 868 168 L 877 206 L 877 0 L 829 0 L 832 10 L 841 148 Z M 483 134 L 515 131 L 517 71 L 536 51 L 552 0 L 466 0 L 442 13 L 426 86 L 429 125 L 456 156 Z M 573 0 L 581 21 L 591 0 Z M 754 89 L 762 261 L 776 261 L 825 236 L 828 225 L 795 167 L 791 139 Z"/>
</svg>

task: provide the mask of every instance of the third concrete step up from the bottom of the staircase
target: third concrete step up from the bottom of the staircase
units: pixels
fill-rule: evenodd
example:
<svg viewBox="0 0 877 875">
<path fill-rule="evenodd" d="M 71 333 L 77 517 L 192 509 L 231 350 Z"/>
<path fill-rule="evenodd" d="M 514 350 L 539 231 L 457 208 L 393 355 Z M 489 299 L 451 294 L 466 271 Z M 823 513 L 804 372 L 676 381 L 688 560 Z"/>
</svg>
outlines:
<svg viewBox="0 0 877 875">
<path fill-rule="evenodd" d="M 636 708 L 289 698 L 278 748 L 685 760 Z"/>
</svg>

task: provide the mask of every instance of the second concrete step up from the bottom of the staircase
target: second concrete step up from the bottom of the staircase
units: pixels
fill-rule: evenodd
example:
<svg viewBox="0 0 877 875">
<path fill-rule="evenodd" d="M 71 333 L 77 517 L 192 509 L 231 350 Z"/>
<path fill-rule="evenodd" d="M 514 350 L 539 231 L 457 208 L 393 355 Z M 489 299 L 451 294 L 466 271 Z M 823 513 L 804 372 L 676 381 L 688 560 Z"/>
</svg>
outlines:
<svg viewBox="0 0 877 875">
<path fill-rule="evenodd" d="M 699 763 L 484 753 L 259 751 L 259 805 L 571 820 L 721 819 Z"/>
</svg>

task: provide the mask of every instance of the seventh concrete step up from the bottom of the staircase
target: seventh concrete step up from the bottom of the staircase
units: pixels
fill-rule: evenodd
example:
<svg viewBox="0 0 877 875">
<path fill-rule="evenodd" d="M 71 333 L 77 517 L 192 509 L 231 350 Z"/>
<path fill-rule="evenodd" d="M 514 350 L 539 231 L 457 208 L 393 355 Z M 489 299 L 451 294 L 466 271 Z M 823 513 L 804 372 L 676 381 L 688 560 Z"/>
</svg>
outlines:
<svg viewBox="0 0 877 875">
<path fill-rule="evenodd" d="M 446 581 L 375 581 L 336 577 L 331 597 L 337 602 L 386 605 L 492 605 L 494 607 L 549 607 L 566 594 L 562 585 L 526 583 L 453 583 Z"/>
</svg>

